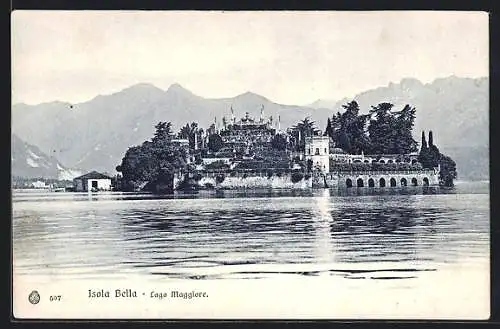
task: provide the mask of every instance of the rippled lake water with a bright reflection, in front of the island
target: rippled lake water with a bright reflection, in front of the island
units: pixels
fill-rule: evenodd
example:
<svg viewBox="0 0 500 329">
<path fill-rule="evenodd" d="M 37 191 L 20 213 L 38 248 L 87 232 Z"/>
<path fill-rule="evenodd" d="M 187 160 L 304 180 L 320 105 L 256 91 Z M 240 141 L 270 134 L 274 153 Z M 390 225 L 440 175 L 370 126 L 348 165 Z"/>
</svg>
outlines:
<svg viewBox="0 0 500 329">
<path fill-rule="evenodd" d="M 455 273 L 453 268 L 481 268 L 480 278 L 487 280 L 488 188 L 476 182 L 452 190 L 226 191 L 162 198 L 14 191 L 13 270 L 18 277 L 52 280 L 321 277 L 349 287 L 392 282 L 407 291 L 419 278 Z"/>
</svg>

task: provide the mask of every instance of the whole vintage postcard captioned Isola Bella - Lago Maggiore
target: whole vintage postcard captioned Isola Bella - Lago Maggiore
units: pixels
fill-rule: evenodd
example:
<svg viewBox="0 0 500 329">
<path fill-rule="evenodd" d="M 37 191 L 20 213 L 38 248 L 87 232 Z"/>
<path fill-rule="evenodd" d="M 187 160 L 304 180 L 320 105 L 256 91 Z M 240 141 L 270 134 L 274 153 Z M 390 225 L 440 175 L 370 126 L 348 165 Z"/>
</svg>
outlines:
<svg viewBox="0 0 500 329">
<path fill-rule="evenodd" d="M 17 319 L 488 319 L 488 13 L 12 13 Z"/>
</svg>

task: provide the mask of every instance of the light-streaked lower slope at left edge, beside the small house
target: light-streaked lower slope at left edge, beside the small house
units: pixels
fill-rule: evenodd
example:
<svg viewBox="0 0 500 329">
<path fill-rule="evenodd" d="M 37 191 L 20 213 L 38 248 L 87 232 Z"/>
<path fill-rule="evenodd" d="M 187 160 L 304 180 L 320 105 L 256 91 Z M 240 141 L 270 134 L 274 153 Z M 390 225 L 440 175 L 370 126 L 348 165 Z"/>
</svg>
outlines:
<svg viewBox="0 0 500 329">
<path fill-rule="evenodd" d="M 65 168 L 54 157 L 47 156 L 38 147 L 25 143 L 16 135 L 12 135 L 11 148 L 12 176 L 71 180 L 81 174 Z"/>
</svg>

